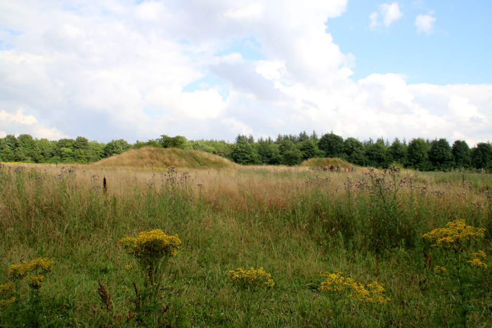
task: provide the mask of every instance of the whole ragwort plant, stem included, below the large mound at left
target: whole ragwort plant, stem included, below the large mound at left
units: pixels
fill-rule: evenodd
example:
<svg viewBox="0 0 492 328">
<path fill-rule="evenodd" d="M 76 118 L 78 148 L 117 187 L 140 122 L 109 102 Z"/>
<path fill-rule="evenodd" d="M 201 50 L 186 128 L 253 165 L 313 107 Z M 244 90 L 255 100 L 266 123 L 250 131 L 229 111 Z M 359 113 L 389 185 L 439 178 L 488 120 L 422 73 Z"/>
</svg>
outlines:
<svg viewBox="0 0 492 328">
<path fill-rule="evenodd" d="M 142 231 L 137 238 L 124 236 L 120 241 L 127 253 L 136 261 L 140 270 L 142 290 L 135 289 L 136 320 L 146 324 L 146 319 L 154 317 L 153 322 L 160 320 L 161 311 L 158 304 L 158 296 L 161 290 L 162 279 L 166 265 L 170 258 L 176 256 L 181 244 L 178 235 L 168 236 L 160 229 Z M 132 269 L 127 265 L 126 270 Z M 153 316 L 149 316 L 152 313 Z"/>
</svg>

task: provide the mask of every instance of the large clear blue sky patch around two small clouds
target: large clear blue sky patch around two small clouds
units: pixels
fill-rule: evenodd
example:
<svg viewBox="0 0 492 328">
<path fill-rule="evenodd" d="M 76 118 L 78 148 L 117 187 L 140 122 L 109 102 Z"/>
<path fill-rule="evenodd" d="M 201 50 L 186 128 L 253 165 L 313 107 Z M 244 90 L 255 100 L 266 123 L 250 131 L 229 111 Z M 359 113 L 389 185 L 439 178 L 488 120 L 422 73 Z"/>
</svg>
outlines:
<svg viewBox="0 0 492 328">
<path fill-rule="evenodd" d="M 409 83 L 491 83 L 492 2 L 399 1 L 404 16 L 373 31 L 369 16 L 382 3 L 349 1 L 346 12 L 327 20 L 334 43 L 357 57 L 351 78 L 401 73 Z M 418 33 L 416 17 L 428 12 L 436 18 L 434 31 Z"/>
</svg>

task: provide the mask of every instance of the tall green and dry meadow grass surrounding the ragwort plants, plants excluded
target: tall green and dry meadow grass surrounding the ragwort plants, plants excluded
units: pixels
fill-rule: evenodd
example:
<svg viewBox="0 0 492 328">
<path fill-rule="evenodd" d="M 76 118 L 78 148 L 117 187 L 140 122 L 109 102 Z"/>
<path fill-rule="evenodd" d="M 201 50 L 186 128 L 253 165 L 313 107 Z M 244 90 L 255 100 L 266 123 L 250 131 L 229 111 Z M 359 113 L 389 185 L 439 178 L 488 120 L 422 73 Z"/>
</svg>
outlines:
<svg viewBox="0 0 492 328">
<path fill-rule="evenodd" d="M 454 312 L 442 305 L 443 291 L 431 290 L 438 280 L 423 264 L 421 235 L 458 218 L 492 228 L 485 175 L 402 171 L 397 182 L 405 182 L 395 192 L 375 185 L 392 176 L 367 169 L 12 165 L 2 172 L 0 276 L 12 263 L 54 259 L 44 315 L 62 316 L 52 324 L 60 327 L 113 324 L 94 294 L 98 281 L 108 286 L 115 311 L 128 315 L 129 263 L 117 240 L 157 228 L 183 241 L 168 273 L 169 324 L 234 326 L 241 310 L 226 273 L 254 266 L 272 273 L 277 285 L 258 319 L 263 325 L 428 327 L 449 322 Z M 404 233 L 386 229 L 388 220 Z M 383 311 L 355 312 L 341 302 L 330 315 L 317 286 L 321 273 L 336 270 L 384 283 L 392 302 Z M 483 305 L 490 299 L 474 299 L 480 311 L 470 322 L 490 323 Z"/>
</svg>

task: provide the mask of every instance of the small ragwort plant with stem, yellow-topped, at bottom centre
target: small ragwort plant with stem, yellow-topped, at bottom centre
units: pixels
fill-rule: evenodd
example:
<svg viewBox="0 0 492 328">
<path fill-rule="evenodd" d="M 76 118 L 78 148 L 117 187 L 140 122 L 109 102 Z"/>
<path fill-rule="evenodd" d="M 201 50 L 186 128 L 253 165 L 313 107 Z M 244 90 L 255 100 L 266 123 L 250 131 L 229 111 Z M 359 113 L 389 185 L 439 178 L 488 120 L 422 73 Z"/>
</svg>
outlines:
<svg viewBox="0 0 492 328">
<path fill-rule="evenodd" d="M 229 271 L 231 279 L 244 308 L 244 327 L 249 327 L 261 308 L 261 305 L 268 295 L 268 292 L 275 286 L 272 275 L 266 273 L 263 268 L 255 270 L 244 270 L 238 268 L 235 271 Z M 255 304 L 256 306 L 253 306 Z"/>
</svg>

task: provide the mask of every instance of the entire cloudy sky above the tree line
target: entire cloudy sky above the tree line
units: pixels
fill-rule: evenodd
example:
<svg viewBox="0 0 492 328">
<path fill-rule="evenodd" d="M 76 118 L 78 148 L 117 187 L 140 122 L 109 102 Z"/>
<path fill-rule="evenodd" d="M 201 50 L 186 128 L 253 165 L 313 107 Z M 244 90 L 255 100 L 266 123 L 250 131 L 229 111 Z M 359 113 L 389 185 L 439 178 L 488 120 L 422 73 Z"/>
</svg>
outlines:
<svg viewBox="0 0 492 328">
<path fill-rule="evenodd" d="M 492 141 L 489 0 L 0 0 L 0 137 Z"/>
</svg>

